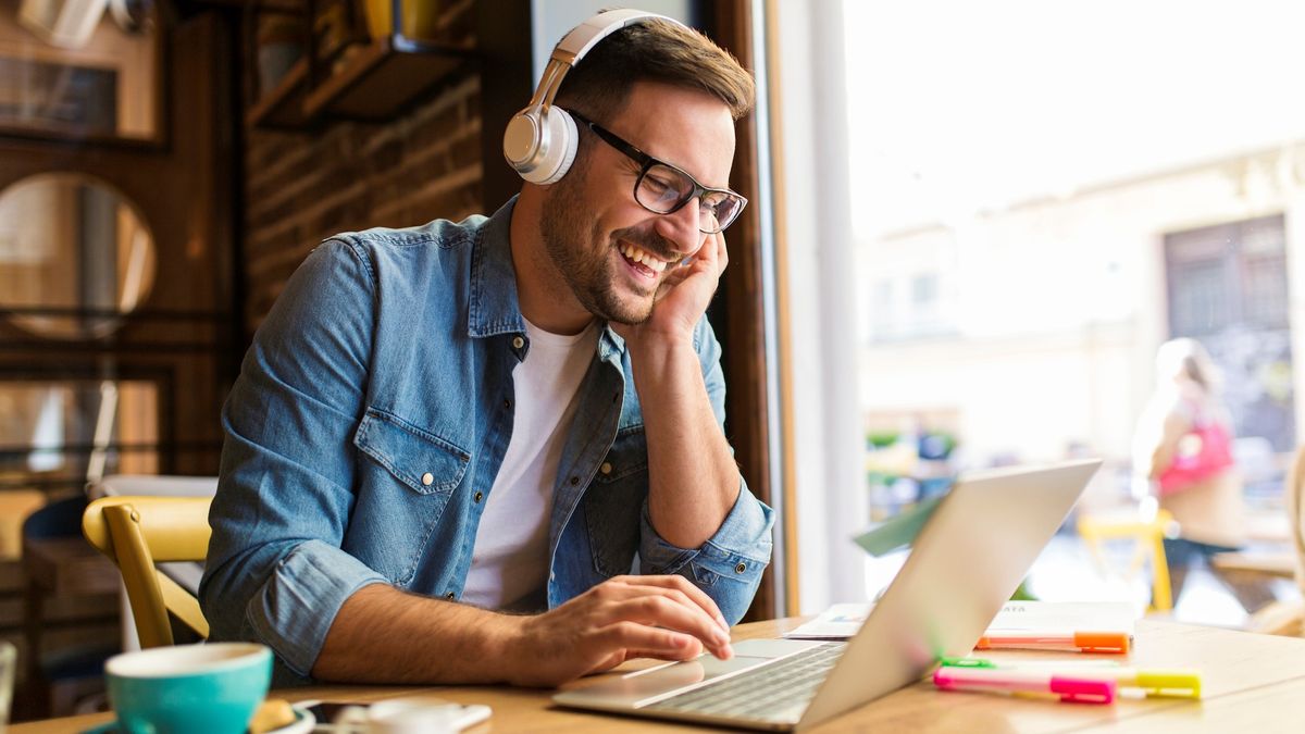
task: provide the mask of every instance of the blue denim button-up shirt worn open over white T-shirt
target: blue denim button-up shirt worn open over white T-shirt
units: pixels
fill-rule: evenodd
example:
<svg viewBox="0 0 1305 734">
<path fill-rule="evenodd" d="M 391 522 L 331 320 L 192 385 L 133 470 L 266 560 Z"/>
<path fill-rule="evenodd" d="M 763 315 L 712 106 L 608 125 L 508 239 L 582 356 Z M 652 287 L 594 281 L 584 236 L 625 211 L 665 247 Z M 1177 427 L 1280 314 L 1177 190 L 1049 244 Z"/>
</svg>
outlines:
<svg viewBox="0 0 1305 734">
<path fill-rule="evenodd" d="M 254 336 L 222 413 L 200 601 L 211 639 L 275 652 L 278 684 L 304 680 L 365 585 L 458 599 L 476 533 L 495 530 L 478 522 L 512 436 L 512 370 L 530 350 L 513 205 L 326 240 Z M 723 423 L 706 319 L 694 347 Z M 659 537 L 630 375 L 624 341 L 604 328 L 553 483 L 548 606 L 616 575 L 679 573 L 735 623 L 770 560 L 773 512 L 740 482 L 701 547 Z"/>
</svg>

